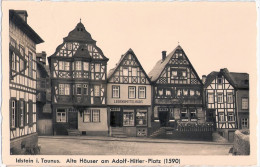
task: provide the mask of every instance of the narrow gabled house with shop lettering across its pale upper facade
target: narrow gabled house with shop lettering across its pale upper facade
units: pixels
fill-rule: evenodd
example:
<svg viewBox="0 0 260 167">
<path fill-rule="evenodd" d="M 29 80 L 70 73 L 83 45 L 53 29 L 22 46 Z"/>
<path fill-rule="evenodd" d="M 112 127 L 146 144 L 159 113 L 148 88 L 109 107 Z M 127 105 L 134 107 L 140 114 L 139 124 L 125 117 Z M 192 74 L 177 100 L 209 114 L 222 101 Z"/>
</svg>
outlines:
<svg viewBox="0 0 260 167">
<path fill-rule="evenodd" d="M 151 127 L 150 79 L 132 49 L 109 71 L 107 91 L 110 134 L 147 136 Z"/>
</svg>

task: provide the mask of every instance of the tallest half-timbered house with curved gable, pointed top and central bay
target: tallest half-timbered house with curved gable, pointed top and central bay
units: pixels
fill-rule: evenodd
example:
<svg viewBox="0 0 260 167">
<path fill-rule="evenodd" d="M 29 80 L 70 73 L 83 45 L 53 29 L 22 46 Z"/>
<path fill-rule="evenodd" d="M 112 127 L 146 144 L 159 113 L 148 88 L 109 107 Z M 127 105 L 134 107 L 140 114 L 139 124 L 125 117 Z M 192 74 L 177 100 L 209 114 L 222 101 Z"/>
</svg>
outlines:
<svg viewBox="0 0 260 167">
<path fill-rule="evenodd" d="M 107 61 L 80 22 L 48 57 L 54 134 L 107 135 Z"/>
</svg>

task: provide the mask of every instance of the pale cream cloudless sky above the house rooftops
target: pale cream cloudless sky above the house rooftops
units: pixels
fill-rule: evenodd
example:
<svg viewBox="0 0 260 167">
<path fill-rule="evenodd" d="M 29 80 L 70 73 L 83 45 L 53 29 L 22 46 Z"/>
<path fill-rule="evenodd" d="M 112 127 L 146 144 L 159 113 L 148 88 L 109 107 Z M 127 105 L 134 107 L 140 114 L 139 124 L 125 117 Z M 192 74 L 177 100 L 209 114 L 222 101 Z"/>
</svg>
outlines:
<svg viewBox="0 0 260 167">
<path fill-rule="evenodd" d="M 27 10 L 28 24 L 52 55 L 80 21 L 109 58 L 108 70 L 129 48 L 148 74 L 178 43 L 198 75 L 220 68 L 256 71 L 254 2 L 9 2 Z"/>
</svg>

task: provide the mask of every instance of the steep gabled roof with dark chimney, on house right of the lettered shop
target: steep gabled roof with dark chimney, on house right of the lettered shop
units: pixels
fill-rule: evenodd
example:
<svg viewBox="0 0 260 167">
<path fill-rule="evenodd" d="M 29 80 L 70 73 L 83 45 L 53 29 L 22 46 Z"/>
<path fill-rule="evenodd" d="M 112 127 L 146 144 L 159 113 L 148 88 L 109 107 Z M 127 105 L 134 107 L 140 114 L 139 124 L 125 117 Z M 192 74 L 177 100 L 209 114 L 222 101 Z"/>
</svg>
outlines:
<svg viewBox="0 0 260 167">
<path fill-rule="evenodd" d="M 196 70 L 193 68 L 189 58 L 186 56 L 186 53 L 184 52 L 184 50 L 182 49 L 182 47 L 180 45 L 178 45 L 171 53 L 169 53 L 166 58 L 164 60 L 159 60 L 155 66 L 153 67 L 153 69 L 149 72 L 148 76 L 150 77 L 152 82 L 156 82 L 158 80 L 158 78 L 160 77 L 161 73 L 163 72 L 163 70 L 165 69 L 165 66 L 169 63 L 169 61 L 171 60 L 172 56 L 174 55 L 174 53 L 177 50 L 182 50 L 188 63 L 190 64 L 192 70 L 194 71 L 194 74 L 196 75 L 196 77 L 199 79 L 199 82 L 202 84 L 200 77 L 198 76 Z"/>
</svg>

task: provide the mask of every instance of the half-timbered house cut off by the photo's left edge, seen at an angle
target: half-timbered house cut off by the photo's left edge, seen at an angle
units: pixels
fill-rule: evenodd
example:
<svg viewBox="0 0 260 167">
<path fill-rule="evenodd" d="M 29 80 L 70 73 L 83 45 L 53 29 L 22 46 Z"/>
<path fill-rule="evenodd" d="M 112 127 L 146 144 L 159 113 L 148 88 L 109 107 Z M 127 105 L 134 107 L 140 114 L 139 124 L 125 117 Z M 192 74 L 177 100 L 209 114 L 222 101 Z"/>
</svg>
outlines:
<svg viewBox="0 0 260 167">
<path fill-rule="evenodd" d="M 41 37 L 27 24 L 27 12 L 9 10 L 11 154 L 38 145 L 36 132 L 36 44 Z"/>
</svg>

